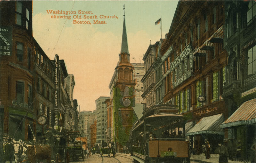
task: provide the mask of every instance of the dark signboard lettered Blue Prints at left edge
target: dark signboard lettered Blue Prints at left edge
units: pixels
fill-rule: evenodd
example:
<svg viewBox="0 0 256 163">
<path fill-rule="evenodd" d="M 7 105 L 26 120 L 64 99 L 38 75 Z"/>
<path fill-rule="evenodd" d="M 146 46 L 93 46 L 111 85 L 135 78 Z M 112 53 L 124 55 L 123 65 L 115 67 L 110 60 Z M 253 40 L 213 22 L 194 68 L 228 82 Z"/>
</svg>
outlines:
<svg viewBox="0 0 256 163">
<path fill-rule="evenodd" d="M 0 55 L 12 55 L 12 27 L 0 26 Z"/>
</svg>

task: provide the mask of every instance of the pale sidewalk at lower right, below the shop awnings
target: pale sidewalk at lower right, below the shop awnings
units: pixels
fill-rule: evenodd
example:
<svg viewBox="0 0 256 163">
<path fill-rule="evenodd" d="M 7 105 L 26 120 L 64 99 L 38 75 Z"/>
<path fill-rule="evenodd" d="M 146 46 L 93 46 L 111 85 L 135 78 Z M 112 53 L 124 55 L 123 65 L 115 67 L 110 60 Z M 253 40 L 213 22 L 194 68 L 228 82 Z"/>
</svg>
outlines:
<svg viewBox="0 0 256 163">
<path fill-rule="evenodd" d="M 200 155 L 191 155 L 190 157 L 191 161 L 201 162 L 201 163 L 218 163 L 219 162 L 219 155 L 218 154 L 210 154 L 209 159 L 205 159 L 204 153 Z M 237 163 L 237 162 L 244 162 L 244 163 L 250 163 L 251 161 L 243 160 L 243 159 L 236 159 L 233 158 L 233 160 L 228 159 L 228 162 L 230 163 Z"/>
</svg>

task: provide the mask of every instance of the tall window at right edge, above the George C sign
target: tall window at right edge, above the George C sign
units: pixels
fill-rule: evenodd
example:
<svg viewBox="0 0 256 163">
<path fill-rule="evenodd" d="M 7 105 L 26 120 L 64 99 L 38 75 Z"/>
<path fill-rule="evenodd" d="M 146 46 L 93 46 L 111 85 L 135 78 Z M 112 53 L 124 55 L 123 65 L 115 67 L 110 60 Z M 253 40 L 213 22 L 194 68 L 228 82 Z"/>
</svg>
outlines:
<svg viewBox="0 0 256 163">
<path fill-rule="evenodd" d="M 252 74 L 256 74 L 256 45 L 248 50 L 247 75 Z"/>
</svg>

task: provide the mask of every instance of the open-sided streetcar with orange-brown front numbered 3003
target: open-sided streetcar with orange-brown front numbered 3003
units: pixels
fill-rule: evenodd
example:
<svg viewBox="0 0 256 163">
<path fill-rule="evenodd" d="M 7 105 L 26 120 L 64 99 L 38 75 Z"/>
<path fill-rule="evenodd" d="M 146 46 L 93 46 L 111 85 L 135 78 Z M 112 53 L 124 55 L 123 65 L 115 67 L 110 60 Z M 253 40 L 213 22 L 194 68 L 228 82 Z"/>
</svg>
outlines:
<svg viewBox="0 0 256 163">
<path fill-rule="evenodd" d="M 140 163 L 190 163 L 184 116 L 176 105 L 144 110 L 132 128 L 132 158 Z"/>
</svg>

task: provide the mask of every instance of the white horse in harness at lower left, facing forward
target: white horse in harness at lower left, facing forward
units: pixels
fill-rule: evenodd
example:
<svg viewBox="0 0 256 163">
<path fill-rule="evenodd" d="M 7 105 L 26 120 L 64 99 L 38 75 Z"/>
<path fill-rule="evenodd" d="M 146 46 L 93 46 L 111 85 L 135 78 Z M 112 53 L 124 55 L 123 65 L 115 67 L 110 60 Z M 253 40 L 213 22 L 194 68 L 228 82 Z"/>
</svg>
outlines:
<svg viewBox="0 0 256 163">
<path fill-rule="evenodd" d="M 30 146 L 30 145 L 25 145 L 25 143 L 22 143 L 20 140 L 19 141 L 12 140 L 12 144 L 14 148 L 15 163 L 26 160 L 27 146 Z"/>
</svg>

